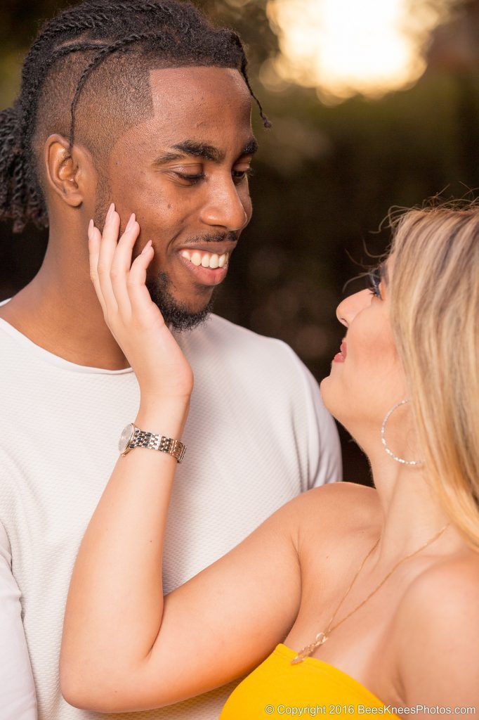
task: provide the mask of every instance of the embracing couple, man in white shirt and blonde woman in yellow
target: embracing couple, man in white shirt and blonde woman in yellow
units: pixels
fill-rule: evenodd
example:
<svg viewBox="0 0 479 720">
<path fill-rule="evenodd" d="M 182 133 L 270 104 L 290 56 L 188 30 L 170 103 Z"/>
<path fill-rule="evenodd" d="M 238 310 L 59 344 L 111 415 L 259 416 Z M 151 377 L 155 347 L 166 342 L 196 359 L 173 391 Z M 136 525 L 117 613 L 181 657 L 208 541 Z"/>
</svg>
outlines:
<svg viewBox="0 0 479 720">
<path fill-rule="evenodd" d="M 251 216 L 237 37 L 188 4 L 84 2 L 2 126 L 3 214 L 50 240 L 0 308 L 1 719 L 35 690 L 55 720 L 479 705 L 478 212 L 406 215 L 339 306 L 321 394 L 377 490 L 301 495 L 339 479 L 311 377 L 201 324 Z"/>
</svg>

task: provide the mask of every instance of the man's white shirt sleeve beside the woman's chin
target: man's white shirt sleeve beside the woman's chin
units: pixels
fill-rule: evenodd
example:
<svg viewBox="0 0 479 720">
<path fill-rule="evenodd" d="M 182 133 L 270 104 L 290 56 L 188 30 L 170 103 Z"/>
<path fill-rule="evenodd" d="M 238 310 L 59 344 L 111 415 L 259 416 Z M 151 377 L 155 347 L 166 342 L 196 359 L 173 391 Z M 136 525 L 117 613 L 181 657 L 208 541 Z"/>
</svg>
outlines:
<svg viewBox="0 0 479 720">
<path fill-rule="evenodd" d="M 304 407 L 308 418 L 307 489 L 342 480 L 342 454 L 339 435 L 332 415 L 324 407 L 319 383 L 296 353 L 288 347 L 304 387 Z"/>
</svg>

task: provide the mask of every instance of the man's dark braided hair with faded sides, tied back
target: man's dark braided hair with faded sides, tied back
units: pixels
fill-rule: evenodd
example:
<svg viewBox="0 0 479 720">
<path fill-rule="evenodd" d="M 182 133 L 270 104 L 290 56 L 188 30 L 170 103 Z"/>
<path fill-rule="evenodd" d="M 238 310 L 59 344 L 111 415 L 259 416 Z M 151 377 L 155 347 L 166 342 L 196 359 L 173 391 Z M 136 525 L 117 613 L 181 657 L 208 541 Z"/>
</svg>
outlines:
<svg viewBox="0 0 479 720">
<path fill-rule="evenodd" d="M 153 68 L 235 68 L 247 77 L 237 33 L 213 27 L 178 0 L 85 0 L 43 25 L 25 58 L 13 107 L 0 112 L 0 220 L 14 232 L 27 222 L 47 227 L 39 163 L 42 144 L 58 132 L 91 150 L 100 174 L 122 131 L 152 116 Z"/>
</svg>

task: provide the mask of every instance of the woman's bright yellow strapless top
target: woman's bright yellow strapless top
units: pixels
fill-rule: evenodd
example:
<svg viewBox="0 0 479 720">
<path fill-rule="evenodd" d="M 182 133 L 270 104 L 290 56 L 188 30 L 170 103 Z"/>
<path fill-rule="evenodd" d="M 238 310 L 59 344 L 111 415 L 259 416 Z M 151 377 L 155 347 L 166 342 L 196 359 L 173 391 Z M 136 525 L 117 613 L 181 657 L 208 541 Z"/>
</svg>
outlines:
<svg viewBox="0 0 479 720">
<path fill-rule="evenodd" d="M 306 657 L 291 665 L 296 654 L 286 645 L 277 645 L 233 690 L 219 720 L 397 717 L 364 685 L 329 662 Z M 382 712 L 367 708 L 382 708 Z"/>
</svg>

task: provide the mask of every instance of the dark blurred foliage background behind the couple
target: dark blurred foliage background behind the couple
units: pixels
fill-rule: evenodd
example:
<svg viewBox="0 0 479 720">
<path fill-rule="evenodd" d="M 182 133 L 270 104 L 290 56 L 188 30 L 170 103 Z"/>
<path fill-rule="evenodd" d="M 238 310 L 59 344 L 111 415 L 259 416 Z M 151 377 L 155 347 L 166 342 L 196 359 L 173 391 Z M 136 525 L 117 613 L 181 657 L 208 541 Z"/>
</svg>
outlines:
<svg viewBox="0 0 479 720">
<path fill-rule="evenodd" d="M 22 57 L 40 20 L 67 4 L 2 4 L 2 107 L 14 99 Z M 283 338 L 320 378 L 329 372 L 343 335 L 334 310 L 345 283 L 375 264 L 370 255 L 388 246 L 387 230 L 377 232 L 388 209 L 421 204 L 439 192 L 462 196 L 477 185 L 479 73 L 444 63 L 412 89 L 375 101 L 356 97 L 335 107 L 297 87 L 270 94 L 257 78 L 260 63 L 277 51 L 266 1 L 198 4 L 247 42 L 252 84 L 273 121 L 273 129 L 265 130 L 253 110 L 260 143 L 252 179 L 255 215 L 216 310 Z M 477 23 L 477 13 L 471 17 Z M 31 228 L 21 236 L 1 228 L 0 298 L 31 279 L 45 245 L 45 235 Z M 362 281 L 353 282 L 346 292 L 359 287 Z M 360 451 L 345 433 L 342 437 L 346 479 L 368 482 Z"/>
</svg>

